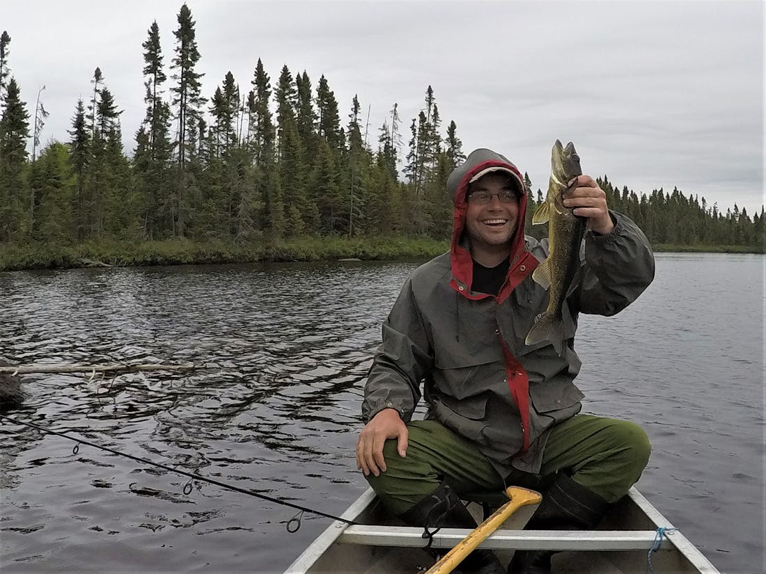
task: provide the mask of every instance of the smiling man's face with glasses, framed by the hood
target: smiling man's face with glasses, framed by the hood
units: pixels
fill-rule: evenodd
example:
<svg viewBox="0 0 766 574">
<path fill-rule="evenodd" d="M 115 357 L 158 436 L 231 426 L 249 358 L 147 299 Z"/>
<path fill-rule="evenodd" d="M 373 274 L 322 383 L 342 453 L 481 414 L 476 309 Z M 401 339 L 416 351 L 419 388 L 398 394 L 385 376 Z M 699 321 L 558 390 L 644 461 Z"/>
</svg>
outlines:
<svg viewBox="0 0 766 574">
<path fill-rule="evenodd" d="M 510 177 L 506 173 L 493 172 L 470 184 L 466 197 L 466 230 L 472 249 L 494 250 L 497 246 L 509 243 L 516 231 L 519 199 Z M 488 202 L 477 201 L 482 196 L 486 199 L 488 194 Z M 512 201 L 508 201 L 509 195 L 513 196 Z"/>
</svg>

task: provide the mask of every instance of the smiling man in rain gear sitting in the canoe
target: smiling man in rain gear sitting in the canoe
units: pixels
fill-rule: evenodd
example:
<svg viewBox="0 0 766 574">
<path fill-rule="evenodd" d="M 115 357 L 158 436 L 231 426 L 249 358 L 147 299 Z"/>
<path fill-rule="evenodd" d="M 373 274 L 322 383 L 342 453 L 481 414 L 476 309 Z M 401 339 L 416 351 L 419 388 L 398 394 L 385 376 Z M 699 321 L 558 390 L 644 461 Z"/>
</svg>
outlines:
<svg viewBox="0 0 766 574">
<path fill-rule="evenodd" d="M 607 209 L 593 178 L 580 175 L 569 189 L 565 205 L 587 218 L 588 233 L 559 356 L 547 341 L 525 344 L 548 304 L 532 280 L 548 242 L 524 236 L 519 170 L 477 149 L 450 174 L 450 253 L 412 273 L 383 325 L 356 446 L 358 468 L 405 523 L 473 528 L 460 494 L 516 484 L 543 493 L 527 528 L 590 528 L 647 465 L 650 445 L 639 426 L 578 414 L 573 341 L 578 313 L 614 315 L 646 289 L 653 253 L 632 221 Z M 421 381 L 428 411 L 413 421 Z M 551 556 L 518 551 L 509 572 L 551 572 Z M 505 572 L 487 550 L 460 568 Z"/>
</svg>

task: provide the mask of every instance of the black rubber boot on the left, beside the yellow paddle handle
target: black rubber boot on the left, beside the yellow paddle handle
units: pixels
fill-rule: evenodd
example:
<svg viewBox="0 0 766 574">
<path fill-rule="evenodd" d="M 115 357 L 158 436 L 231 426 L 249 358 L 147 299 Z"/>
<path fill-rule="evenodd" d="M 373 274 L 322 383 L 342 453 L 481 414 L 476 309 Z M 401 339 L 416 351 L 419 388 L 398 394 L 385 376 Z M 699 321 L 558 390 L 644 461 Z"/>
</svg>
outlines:
<svg viewBox="0 0 766 574">
<path fill-rule="evenodd" d="M 476 520 L 446 482 L 442 482 L 400 518 L 410 526 L 424 527 L 429 532 L 438 528 L 476 528 Z M 433 550 L 429 552 L 435 554 Z M 506 574 L 502 563 L 490 550 L 474 550 L 458 568 L 463 574 Z"/>
</svg>

